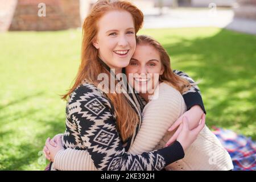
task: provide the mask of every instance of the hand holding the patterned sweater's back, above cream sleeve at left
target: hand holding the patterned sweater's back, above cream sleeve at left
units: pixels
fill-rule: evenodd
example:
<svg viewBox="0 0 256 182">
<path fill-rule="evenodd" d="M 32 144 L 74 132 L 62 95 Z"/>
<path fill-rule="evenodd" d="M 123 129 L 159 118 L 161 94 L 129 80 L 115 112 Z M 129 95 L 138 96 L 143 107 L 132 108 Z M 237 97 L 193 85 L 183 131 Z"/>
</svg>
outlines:
<svg viewBox="0 0 256 182">
<path fill-rule="evenodd" d="M 62 134 L 55 135 L 53 139 L 47 138 L 46 146 L 43 149 L 46 159 L 53 162 L 57 152 L 64 149 L 61 138 Z"/>
</svg>

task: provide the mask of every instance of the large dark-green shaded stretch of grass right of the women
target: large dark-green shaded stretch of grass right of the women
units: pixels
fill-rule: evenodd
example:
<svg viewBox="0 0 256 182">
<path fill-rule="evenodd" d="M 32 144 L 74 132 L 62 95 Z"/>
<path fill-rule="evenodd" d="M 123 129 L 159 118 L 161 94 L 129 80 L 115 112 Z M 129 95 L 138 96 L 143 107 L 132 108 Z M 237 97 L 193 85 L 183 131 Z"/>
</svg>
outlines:
<svg viewBox="0 0 256 182">
<path fill-rule="evenodd" d="M 163 45 L 175 58 L 175 69 L 203 78 L 199 86 L 209 126 L 239 132 L 255 125 L 255 44 L 256 36 L 221 30 L 209 38 Z M 256 139 L 256 133 L 250 137 Z"/>
</svg>

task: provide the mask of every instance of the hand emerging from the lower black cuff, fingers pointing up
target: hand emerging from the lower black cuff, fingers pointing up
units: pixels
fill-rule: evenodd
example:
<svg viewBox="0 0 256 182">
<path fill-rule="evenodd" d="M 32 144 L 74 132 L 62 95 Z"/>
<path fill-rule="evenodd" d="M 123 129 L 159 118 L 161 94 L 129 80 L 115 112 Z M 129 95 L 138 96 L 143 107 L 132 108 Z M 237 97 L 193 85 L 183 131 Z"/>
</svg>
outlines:
<svg viewBox="0 0 256 182">
<path fill-rule="evenodd" d="M 166 143 L 166 146 L 170 145 L 172 142 L 177 140 L 180 142 L 183 150 L 185 151 L 197 138 L 200 131 L 203 130 L 205 126 L 205 114 L 202 114 L 201 123 L 195 128 L 190 130 L 188 118 L 183 117 L 182 123 L 180 124 L 179 128 L 176 130 L 175 134 L 171 137 L 170 140 Z"/>
</svg>

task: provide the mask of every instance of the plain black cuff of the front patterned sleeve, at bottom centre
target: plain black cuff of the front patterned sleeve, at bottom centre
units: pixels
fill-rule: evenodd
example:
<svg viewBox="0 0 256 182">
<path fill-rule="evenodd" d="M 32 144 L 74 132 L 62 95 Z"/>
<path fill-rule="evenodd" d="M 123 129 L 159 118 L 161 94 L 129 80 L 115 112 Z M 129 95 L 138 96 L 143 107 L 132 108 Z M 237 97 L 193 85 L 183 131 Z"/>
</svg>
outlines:
<svg viewBox="0 0 256 182">
<path fill-rule="evenodd" d="M 171 144 L 171 146 L 158 150 L 158 153 L 166 160 L 166 166 L 177 160 L 183 159 L 185 156 L 183 147 L 177 140 Z"/>
</svg>

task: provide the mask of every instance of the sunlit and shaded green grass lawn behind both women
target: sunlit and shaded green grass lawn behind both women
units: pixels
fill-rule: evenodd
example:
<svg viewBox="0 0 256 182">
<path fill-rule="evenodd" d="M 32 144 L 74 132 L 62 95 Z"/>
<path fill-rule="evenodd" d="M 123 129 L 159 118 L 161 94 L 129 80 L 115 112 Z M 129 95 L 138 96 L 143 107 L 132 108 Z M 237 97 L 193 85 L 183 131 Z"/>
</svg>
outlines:
<svg viewBox="0 0 256 182">
<path fill-rule="evenodd" d="M 256 139 L 256 36 L 219 28 L 143 30 L 172 68 L 201 80 L 208 126 Z M 42 170 L 47 137 L 65 129 L 65 93 L 80 63 L 81 31 L 0 34 L 0 170 Z"/>
</svg>

